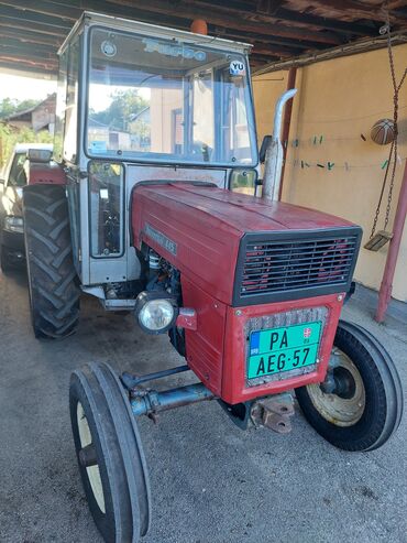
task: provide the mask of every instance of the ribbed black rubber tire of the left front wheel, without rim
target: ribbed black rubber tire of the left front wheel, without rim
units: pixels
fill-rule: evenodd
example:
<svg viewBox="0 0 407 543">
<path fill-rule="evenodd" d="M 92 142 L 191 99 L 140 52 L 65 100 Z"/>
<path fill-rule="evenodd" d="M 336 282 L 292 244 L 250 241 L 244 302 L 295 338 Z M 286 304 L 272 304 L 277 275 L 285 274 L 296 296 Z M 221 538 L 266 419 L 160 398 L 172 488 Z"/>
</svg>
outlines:
<svg viewBox="0 0 407 543">
<path fill-rule="evenodd" d="M 79 463 L 78 402 L 95 442 L 106 513 L 95 499 L 86 467 Z M 108 543 L 135 543 L 150 528 L 151 492 L 139 431 L 123 387 L 108 365 L 90 363 L 72 374 L 69 405 L 80 476 L 95 523 Z"/>
</svg>

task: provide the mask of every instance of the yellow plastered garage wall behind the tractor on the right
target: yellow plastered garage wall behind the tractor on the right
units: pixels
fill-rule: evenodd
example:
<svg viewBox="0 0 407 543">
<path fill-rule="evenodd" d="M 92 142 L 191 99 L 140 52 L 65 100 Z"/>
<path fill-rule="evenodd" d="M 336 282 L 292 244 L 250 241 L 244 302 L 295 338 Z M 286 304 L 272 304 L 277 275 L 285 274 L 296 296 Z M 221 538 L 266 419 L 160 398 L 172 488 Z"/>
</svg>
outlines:
<svg viewBox="0 0 407 543">
<path fill-rule="evenodd" d="M 407 45 L 394 47 L 394 55 L 399 79 L 407 66 Z M 286 89 L 287 76 L 287 72 L 274 72 L 253 77 L 260 141 L 265 133 L 272 133 L 274 105 Z M 370 138 L 376 120 L 393 117 L 393 86 L 387 50 L 300 68 L 297 70 L 296 86 L 298 94 L 294 99 L 283 199 L 339 215 L 361 225 L 364 243 L 372 229 L 384 176 L 382 167 L 389 151 L 389 145 L 377 145 Z M 407 82 L 399 96 L 399 120 L 400 159 L 389 227 L 393 225 L 407 156 Z M 383 228 L 386 202 L 387 195 L 382 206 L 378 229 Z M 378 290 L 386 254 L 387 248 L 378 252 L 362 249 L 355 271 L 356 280 Z M 393 290 L 394 297 L 403 301 L 407 301 L 406 272 L 407 228 Z"/>
</svg>

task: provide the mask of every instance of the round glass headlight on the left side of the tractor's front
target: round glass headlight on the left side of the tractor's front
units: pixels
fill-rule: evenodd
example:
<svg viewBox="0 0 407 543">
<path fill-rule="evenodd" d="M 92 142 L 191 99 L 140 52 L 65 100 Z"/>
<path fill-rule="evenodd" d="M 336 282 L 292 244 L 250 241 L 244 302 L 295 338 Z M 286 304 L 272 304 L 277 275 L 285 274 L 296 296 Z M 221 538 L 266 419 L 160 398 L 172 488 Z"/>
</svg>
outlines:
<svg viewBox="0 0 407 543">
<path fill-rule="evenodd" d="M 156 297 L 154 294 L 145 292 L 139 294 L 135 313 L 144 332 L 163 334 L 174 326 L 177 307 L 172 300 Z"/>
</svg>

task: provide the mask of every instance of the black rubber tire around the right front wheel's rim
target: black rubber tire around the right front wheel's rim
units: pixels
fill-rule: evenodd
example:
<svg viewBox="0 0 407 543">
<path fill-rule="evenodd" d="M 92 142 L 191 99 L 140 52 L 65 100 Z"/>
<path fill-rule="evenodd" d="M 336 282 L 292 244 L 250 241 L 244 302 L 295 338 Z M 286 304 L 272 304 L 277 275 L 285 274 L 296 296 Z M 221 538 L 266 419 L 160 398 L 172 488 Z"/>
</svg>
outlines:
<svg viewBox="0 0 407 543">
<path fill-rule="evenodd" d="M 349 427 L 341 427 L 319 414 L 308 387 L 296 397 L 310 425 L 329 443 L 344 450 L 374 450 L 396 432 L 403 415 L 403 389 L 394 362 L 376 338 L 359 325 L 340 321 L 333 345 L 356 366 L 365 388 L 365 410 Z"/>
</svg>

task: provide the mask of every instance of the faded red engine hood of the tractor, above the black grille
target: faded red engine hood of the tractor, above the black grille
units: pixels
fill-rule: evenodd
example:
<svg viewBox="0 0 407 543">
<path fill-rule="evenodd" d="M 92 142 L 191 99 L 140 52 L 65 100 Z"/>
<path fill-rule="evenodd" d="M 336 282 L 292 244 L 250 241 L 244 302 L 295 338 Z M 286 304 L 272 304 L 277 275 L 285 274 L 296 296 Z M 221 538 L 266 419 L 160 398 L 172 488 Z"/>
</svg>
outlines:
<svg viewBox="0 0 407 543">
<path fill-rule="evenodd" d="M 341 236 L 350 228 L 359 230 L 305 207 L 176 182 L 136 185 L 131 216 L 135 248 L 145 242 L 224 303 L 232 303 L 239 251 L 248 237 Z"/>
</svg>

